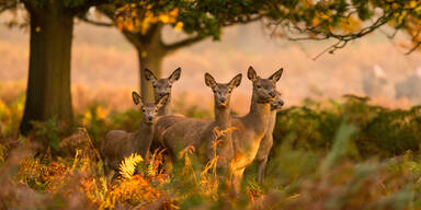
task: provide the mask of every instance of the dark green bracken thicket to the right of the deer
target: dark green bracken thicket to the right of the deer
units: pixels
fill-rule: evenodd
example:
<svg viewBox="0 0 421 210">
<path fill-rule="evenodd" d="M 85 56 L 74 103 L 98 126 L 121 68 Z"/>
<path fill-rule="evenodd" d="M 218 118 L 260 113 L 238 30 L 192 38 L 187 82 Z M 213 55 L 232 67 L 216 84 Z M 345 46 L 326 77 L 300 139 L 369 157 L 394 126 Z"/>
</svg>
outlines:
<svg viewBox="0 0 421 210">
<path fill-rule="evenodd" d="M 326 151 L 343 120 L 357 128 L 353 141 L 363 158 L 387 158 L 420 150 L 421 106 L 389 109 L 351 95 L 344 101 L 325 103 L 307 100 L 300 107 L 280 112 L 274 142 L 281 144 L 284 137 L 294 135 L 294 149 Z"/>
</svg>

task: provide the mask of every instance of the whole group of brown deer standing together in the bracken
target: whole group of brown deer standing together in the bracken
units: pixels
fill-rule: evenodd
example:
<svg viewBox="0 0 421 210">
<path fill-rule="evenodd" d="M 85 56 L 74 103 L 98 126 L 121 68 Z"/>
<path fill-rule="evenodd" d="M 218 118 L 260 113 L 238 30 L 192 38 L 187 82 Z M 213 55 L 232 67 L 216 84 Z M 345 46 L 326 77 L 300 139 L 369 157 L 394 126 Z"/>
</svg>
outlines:
<svg viewBox="0 0 421 210">
<path fill-rule="evenodd" d="M 262 79 L 252 67 L 248 69 L 247 77 L 253 89 L 250 110 L 244 116 L 230 112 L 231 93 L 240 85 L 241 73 L 228 83 L 219 83 L 205 73 L 205 84 L 214 92 L 214 118 L 200 119 L 170 113 L 171 88 L 180 79 L 181 68 L 167 79 L 157 79 L 146 69 L 145 78 L 153 86 L 156 103 L 144 103 L 139 94 L 133 92 L 143 119 L 136 132 L 112 130 L 101 141 L 105 175 L 110 180 L 118 177 L 120 163 L 132 153 L 146 158 L 151 148 L 159 145 L 168 151 L 171 161 L 178 161 L 181 151 L 193 147 L 204 163 L 217 159 L 217 167 L 226 172 L 226 184 L 232 195 L 239 191 L 243 172 L 253 161 L 259 164 L 258 180 L 263 182 L 276 112 L 284 105 L 276 91 L 282 72 L 280 69 Z M 219 135 L 215 135 L 216 130 Z"/>
</svg>

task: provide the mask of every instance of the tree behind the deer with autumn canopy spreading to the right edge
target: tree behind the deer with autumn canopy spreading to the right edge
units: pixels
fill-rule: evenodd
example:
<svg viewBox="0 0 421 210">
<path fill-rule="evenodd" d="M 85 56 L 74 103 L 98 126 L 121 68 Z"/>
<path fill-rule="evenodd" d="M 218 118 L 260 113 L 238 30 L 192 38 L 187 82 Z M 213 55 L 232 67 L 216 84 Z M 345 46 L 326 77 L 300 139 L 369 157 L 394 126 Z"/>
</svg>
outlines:
<svg viewBox="0 0 421 210">
<path fill-rule="evenodd" d="M 149 68 L 160 77 L 161 63 L 167 55 L 206 37 L 218 40 L 225 26 L 261 20 L 272 36 L 286 37 L 291 40 L 337 39 L 337 43 L 322 51 L 333 52 L 383 25 L 390 25 L 395 28 L 390 37 L 399 31 L 410 36 L 411 45 L 406 47 L 409 47 L 411 52 L 421 44 L 420 5 L 421 3 L 416 0 L 264 2 L 163 0 L 114 2 L 100 7 L 99 10 L 110 18 L 112 23 L 99 23 L 87 16 L 82 19 L 96 25 L 114 25 L 122 31 L 138 51 L 143 95 L 151 98 L 150 84 L 144 78 L 145 68 Z M 162 37 L 164 25 L 182 30 L 190 36 L 168 44 Z"/>
</svg>

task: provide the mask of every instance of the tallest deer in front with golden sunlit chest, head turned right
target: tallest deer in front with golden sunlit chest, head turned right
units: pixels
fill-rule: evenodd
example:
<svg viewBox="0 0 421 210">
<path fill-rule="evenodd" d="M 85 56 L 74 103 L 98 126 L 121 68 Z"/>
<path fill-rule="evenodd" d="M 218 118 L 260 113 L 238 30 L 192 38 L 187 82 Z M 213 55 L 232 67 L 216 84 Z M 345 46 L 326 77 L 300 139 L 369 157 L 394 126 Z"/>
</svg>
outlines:
<svg viewBox="0 0 421 210">
<path fill-rule="evenodd" d="M 230 196 L 238 195 L 242 175 L 248 165 L 255 159 L 260 143 L 268 132 L 271 118 L 271 103 L 276 98 L 276 82 L 281 79 L 283 68 L 268 79 L 260 78 L 253 67 L 249 67 L 247 75 L 253 83 L 250 110 L 246 116 L 232 116 L 234 156 L 229 162 L 227 185 Z"/>
</svg>

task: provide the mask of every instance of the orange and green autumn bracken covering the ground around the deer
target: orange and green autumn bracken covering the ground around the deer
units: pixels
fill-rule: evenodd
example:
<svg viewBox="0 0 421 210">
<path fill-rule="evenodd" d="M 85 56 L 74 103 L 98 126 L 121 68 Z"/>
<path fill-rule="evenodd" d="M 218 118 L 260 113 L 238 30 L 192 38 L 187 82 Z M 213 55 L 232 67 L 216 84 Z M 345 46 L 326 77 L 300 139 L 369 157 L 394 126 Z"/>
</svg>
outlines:
<svg viewBox="0 0 421 210">
<path fill-rule="evenodd" d="M 420 209 L 420 107 L 390 109 L 346 96 L 306 101 L 277 115 L 263 185 L 246 171 L 238 199 L 224 174 L 190 149 L 171 167 L 162 150 L 133 154 L 107 184 L 95 145 L 111 129 L 134 130 L 138 110 L 92 104 L 66 137 L 50 119 L 18 135 L 21 98 L 0 106 L 2 209 Z M 194 113 L 192 116 L 203 116 Z M 134 173 L 136 172 L 136 173 Z"/>
</svg>

